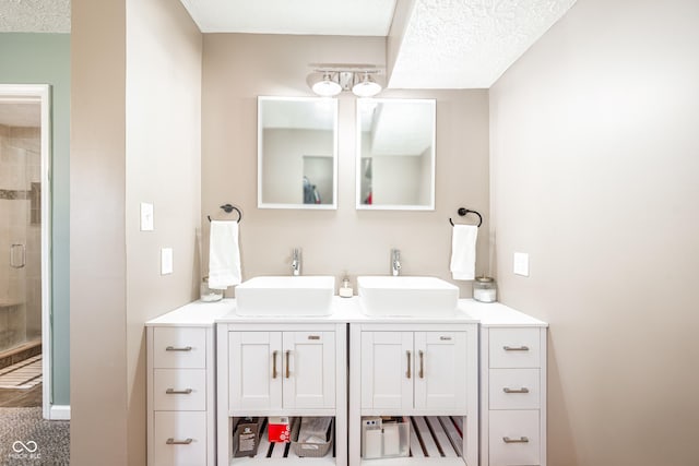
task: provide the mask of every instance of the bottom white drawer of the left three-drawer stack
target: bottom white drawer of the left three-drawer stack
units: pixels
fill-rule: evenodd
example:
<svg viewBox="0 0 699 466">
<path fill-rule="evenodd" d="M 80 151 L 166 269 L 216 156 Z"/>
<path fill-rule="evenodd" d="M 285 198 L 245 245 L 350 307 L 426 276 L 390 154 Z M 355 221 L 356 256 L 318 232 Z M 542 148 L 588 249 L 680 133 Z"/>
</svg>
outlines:
<svg viewBox="0 0 699 466">
<path fill-rule="evenodd" d="M 206 413 L 155 413 L 154 459 L 155 466 L 206 464 Z"/>
</svg>

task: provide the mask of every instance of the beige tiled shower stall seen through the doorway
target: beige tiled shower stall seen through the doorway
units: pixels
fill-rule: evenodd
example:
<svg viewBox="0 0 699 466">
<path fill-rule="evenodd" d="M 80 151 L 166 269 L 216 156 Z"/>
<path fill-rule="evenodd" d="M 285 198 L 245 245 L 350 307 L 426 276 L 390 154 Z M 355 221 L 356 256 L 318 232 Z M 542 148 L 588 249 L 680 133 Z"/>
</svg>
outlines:
<svg viewBox="0 0 699 466">
<path fill-rule="evenodd" d="M 40 103 L 0 99 L 0 367 L 40 350 Z"/>
</svg>

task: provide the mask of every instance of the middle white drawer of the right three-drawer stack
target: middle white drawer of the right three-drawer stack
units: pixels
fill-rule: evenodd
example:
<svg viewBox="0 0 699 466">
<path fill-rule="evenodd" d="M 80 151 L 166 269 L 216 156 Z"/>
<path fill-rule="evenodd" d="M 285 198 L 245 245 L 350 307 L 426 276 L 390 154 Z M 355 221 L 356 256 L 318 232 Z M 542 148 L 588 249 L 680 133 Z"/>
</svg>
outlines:
<svg viewBox="0 0 699 466">
<path fill-rule="evenodd" d="M 490 369 L 490 409 L 538 409 L 538 369 Z"/>
</svg>

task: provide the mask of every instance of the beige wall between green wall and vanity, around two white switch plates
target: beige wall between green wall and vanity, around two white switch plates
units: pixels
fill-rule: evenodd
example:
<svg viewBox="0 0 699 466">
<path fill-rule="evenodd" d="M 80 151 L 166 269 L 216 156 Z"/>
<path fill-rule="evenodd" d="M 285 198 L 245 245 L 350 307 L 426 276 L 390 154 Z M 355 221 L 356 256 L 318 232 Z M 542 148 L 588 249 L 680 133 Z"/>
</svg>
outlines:
<svg viewBox="0 0 699 466">
<path fill-rule="evenodd" d="M 145 465 L 143 323 L 198 280 L 201 34 L 179 2 L 74 0 L 71 75 L 71 465 Z"/>
</svg>

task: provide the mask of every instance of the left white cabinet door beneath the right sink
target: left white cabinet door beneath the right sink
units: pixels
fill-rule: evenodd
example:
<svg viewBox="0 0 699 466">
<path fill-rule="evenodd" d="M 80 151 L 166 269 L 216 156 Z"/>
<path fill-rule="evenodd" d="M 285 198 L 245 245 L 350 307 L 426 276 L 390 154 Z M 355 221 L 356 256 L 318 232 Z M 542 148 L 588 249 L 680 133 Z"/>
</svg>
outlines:
<svg viewBox="0 0 699 466">
<path fill-rule="evenodd" d="M 412 332 L 363 332 L 362 408 L 411 409 L 414 362 Z"/>
</svg>

